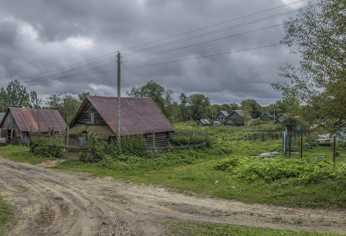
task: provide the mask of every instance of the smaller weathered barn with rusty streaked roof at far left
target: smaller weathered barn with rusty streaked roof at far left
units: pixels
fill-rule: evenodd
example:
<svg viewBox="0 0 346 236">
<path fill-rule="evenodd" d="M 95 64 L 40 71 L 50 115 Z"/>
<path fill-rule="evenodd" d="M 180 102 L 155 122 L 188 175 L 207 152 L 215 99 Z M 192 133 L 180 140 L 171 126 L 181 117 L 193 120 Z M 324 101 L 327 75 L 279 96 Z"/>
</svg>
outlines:
<svg viewBox="0 0 346 236">
<path fill-rule="evenodd" d="M 38 109 L 40 130 L 54 127 L 55 131 L 66 130 L 66 123 L 57 110 Z M 32 108 L 9 107 L 0 122 L 0 142 L 12 137 L 20 137 L 23 144 L 30 141 L 30 126 L 38 130 L 37 110 Z"/>
</svg>

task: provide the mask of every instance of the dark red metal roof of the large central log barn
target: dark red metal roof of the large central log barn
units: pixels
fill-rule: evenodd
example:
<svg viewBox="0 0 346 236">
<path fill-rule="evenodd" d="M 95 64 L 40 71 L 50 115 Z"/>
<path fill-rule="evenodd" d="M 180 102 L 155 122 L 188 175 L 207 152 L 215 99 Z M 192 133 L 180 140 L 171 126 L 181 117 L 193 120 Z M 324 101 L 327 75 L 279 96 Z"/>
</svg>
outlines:
<svg viewBox="0 0 346 236">
<path fill-rule="evenodd" d="M 86 96 L 113 132 L 117 133 L 117 97 Z M 120 98 L 121 135 L 174 131 L 150 98 Z M 71 124 L 73 125 L 73 124 Z M 70 125 L 70 126 L 71 126 Z"/>
</svg>

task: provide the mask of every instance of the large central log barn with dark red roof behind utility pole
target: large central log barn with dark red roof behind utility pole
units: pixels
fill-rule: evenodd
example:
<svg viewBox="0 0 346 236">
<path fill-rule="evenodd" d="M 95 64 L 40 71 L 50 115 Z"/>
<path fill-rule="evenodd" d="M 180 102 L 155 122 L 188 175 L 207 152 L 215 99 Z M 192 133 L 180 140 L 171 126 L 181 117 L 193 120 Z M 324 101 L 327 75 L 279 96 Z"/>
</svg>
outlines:
<svg viewBox="0 0 346 236">
<path fill-rule="evenodd" d="M 103 139 L 116 138 L 117 97 L 86 96 L 71 119 L 70 132 L 89 132 Z M 147 146 L 166 146 L 173 125 L 150 98 L 120 98 L 121 136 L 143 134 Z"/>
</svg>

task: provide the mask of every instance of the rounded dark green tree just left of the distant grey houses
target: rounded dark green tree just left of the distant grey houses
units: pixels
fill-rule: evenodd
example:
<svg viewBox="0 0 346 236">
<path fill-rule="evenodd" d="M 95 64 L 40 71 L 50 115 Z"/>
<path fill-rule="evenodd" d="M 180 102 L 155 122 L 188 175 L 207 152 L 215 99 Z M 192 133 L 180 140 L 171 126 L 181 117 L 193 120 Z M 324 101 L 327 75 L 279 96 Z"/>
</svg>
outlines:
<svg viewBox="0 0 346 236">
<path fill-rule="evenodd" d="M 189 96 L 189 114 L 193 120 L 206 119 L 210 101 L 203 94 L 192 94 Z"/>
</svg>

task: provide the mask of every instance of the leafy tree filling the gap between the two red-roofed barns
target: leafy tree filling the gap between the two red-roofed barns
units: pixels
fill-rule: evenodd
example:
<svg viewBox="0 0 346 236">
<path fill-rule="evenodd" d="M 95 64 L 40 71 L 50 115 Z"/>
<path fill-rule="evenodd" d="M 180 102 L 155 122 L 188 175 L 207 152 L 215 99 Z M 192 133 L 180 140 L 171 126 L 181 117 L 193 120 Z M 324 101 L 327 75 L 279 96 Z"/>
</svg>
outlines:
<svg viewBox="0 0 346 236">
<path fill-rule="evenodd" d="M 58 110 L 66 123 L 69 123 L 79 107 L 78 100 L 66 93 L 52 94 L 47 98 L 46 109 Z"/>
</svg>

